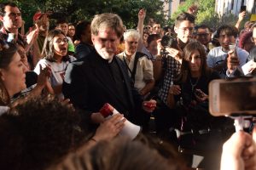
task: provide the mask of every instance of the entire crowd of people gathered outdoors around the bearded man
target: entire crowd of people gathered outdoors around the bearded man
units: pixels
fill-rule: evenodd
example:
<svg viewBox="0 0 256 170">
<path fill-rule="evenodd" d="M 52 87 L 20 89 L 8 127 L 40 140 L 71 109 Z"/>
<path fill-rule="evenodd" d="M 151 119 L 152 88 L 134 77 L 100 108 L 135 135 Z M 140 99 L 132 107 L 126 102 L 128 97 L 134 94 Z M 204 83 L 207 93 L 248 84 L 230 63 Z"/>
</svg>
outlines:
<svg viewBox="0 0 256 170">
<path fill-rule="evenodd" d="M 230 118 L 209 113 L 209 83 L 245 76 L 241 67 L 256 62 L 245 11 L 216 31 L 195 25 L 195 5 L 166 27 L 140 9 L 137 29 L 105 13 L 49 30 L 49 15 L 34 14 L 25 35 L 18 6 L 0 4 L 1 168 L 256 167 L 256 130 L 235 133 Z M 120 135 L 127 122 L 141 127 L 133 140 Z"/>
</svg>

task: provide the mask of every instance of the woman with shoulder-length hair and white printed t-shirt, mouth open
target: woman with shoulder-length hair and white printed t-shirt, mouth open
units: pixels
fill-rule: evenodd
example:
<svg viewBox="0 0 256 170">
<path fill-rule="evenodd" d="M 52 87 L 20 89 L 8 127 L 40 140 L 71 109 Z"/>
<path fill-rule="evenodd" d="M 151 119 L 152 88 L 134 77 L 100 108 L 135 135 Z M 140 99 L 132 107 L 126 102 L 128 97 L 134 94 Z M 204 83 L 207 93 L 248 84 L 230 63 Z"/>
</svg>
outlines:
<svg viewBox="0 0 256 170">
<path fill-rule="evenodd" d="M 67 55 L 67 46 L 68 40 L 62 31 L 49 31 L 44 41 L 43 59 L 39 60 L 38 65 L 34 69 L 39 74 L 39 65 L 50 67 L 51 76 L 49 77 L 49 83 L 46 85 L 46 88 L 50 94 L 56 94 L 59 99 L 64 99 L 61 90 L 67 65 L 75 60 L 73 56 Z"/>
</svg>

